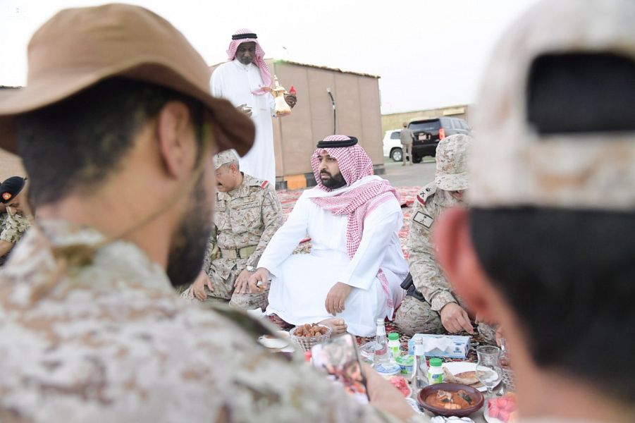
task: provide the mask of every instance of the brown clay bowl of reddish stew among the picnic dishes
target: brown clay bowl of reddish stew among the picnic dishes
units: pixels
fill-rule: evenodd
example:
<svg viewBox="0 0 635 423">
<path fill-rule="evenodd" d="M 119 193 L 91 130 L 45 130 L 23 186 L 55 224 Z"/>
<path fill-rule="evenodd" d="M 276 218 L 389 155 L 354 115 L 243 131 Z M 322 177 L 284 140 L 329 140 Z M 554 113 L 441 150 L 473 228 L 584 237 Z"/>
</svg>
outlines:
<svg viewBox="0 0 635 423">
<path fill-rule="evenodd" d="M 438 416 L 467 417 L 483 407 L 483 394 L 461 384 L 433 384 L 419 391 L 419 404 Z"/>
</svg>

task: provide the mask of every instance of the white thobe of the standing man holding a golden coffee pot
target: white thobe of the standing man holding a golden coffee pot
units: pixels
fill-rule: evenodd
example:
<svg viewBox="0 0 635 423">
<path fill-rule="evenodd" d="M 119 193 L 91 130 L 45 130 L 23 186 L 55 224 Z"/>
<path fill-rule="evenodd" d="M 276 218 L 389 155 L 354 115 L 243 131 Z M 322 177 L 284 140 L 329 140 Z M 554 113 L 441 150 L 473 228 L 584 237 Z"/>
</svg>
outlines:
<svg viewBox="0 0 635 423">
<path fill-rule="evenodd" d="M 211 94 L 228 99 L 238 107 L 247 104 L 252 108 L 252 121 L 256 125 L 256 140 L 245 157 L 239 159 L 240 170 L 261 180 L 276 184 L 276 156 L 273 152 L 273 96 L 254 94 L 262 87 L 258 66 L 245 66 L 240 61 L 223 63 L 211 75 Z"/>
</svg>

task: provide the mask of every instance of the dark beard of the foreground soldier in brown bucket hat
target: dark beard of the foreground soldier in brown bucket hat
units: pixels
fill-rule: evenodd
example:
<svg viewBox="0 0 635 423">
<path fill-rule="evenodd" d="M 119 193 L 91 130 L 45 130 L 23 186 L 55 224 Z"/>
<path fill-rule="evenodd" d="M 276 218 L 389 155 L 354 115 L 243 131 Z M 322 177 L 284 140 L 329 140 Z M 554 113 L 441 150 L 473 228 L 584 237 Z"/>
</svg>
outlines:
<svg viewBox="0 0 635 423">
<path fill-rule="evenodd" d="M 174 287 L 192 283 L 198 276 L 211 233 L 212 210 L 203 176 L 197 180 L 192 197 L 194 203 L 183 216 L 168 256 L 167 274 Z"/>
</svg>

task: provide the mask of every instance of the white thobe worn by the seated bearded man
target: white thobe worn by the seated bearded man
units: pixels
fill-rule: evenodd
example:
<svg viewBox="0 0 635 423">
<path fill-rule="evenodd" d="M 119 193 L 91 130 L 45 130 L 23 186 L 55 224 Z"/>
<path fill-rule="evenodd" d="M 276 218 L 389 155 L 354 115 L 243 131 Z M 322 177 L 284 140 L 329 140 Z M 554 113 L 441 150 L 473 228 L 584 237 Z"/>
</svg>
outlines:
<svg viewBox="0 0 635 423">
<path fill-rule="evenodd" d="M 340 190 L 378 179 L 367 176 Z M 346 321 L 350 333 L 372 336 L 376 319 L 392 319 L 394 307 L 405 295 L 400 283 L 408 273 L 408 264 L 397 236 L 403 223 L 400 204 L 392 197 L 366 216 L 362 241 L 350 259 L 346 252 L 347 216 L 331 214 L 311 200 L 323 194 L 318 188 L 302 193 L 258 263 L 272 275 L 266 314 L 277 314 L 295 325 L 333 318 L 324 302 L 333 285 L 342 282 L 353 288 L 345 310 L 336 317 Z M 311 237 L 311 253 L 292 255 L 307 233 Z M 388 279 L 394 307 L 388 306 L 386 293 L 376 277 L 380 268 Z"/>
</svg>

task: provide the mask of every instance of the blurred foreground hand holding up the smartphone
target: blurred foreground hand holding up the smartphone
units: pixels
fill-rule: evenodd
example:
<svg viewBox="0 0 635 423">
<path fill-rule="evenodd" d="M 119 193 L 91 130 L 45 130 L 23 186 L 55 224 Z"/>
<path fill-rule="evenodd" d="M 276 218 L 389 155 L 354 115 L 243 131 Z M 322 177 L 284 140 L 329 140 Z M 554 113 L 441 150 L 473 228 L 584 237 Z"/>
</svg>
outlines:
<svg viewBox="0 0 635 423">
<path fill-rule="evenodd" d="M 403 421 L 412 417 L 414 410 L 406 403 L 402 393 L 368 364 L 363 364 L 363 368 L 371 404 Z"/>
</svg>

